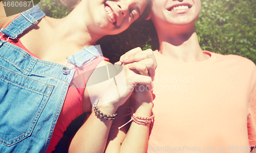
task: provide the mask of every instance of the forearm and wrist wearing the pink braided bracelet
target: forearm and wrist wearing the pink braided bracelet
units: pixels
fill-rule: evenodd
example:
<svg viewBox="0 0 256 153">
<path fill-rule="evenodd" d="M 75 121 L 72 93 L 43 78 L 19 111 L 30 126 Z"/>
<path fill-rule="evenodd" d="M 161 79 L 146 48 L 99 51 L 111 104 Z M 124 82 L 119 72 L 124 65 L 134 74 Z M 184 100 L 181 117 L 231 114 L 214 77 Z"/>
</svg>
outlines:
<svg viewBox="0 0 256 153">
<path fill-rule="evenodd" d="M 144 103 L 136 105 L 135 114 L 142 117 L 150 117 L 152 115 L 152 103 Z M 146 152 L 148 144 L 148 136 L 150 124 L 139 125 L 132 122 L 129 131 L 120 147 L 119 153 L 123 152 Z"/>
</svg>

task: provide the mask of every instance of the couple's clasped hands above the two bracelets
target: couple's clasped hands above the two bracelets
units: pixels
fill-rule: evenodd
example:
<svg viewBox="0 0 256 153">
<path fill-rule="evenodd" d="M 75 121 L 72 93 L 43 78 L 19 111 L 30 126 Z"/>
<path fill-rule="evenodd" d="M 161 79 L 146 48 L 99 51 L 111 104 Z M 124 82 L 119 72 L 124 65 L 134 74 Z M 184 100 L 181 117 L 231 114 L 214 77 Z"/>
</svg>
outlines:
<svg viewBox="0 0 256 153">
<path fill-rule="evenodd" d="M 135 48 L 122 55 L 121 58 L 123 57 L 122 62 L 115 63 L 115 68 L 118 72 L 104 94 L 99 96 L 99 99 L 101 99 L 98 103 L 99 105 L 111 102 L 109 104 L 117 108 L 131 96 L 137 84 L 139 84 L 137 85 L 139 89 L 143 88 L 143 91 L 134 93 L 135 97 L 137 97 L 136 101 L 139 103 L 152 102 L 151 91 L 154 87 L 153 78 L 157 67 L 153 51 L 142 51 L 140 48 Z M 120 65 L 122 65 L 122 68 Z M 150 96 L 146 96 L 148 94 Z"/>
</svg>

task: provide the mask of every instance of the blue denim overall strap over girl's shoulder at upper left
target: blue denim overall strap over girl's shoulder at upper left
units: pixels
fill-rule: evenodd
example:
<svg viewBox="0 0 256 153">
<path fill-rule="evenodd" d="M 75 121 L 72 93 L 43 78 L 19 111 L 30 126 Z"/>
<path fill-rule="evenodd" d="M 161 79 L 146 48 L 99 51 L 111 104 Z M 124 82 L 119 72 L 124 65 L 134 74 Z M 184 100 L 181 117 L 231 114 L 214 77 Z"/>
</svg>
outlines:
<svg viewBox="0 0 256 153">
<path fill-rule="evenodd" d="M 15 39 L 24 31 L 33 27 L 37 24 L 37 20 L 44 17 L 46 14 L 40 9 L 38 5 L 32 7 L 31 9 L 20 13 L 20 15 L 13 19 L 11 23 L 0 30 L 1 33 L 7 35 L 8 37 Z"/>
</svg>

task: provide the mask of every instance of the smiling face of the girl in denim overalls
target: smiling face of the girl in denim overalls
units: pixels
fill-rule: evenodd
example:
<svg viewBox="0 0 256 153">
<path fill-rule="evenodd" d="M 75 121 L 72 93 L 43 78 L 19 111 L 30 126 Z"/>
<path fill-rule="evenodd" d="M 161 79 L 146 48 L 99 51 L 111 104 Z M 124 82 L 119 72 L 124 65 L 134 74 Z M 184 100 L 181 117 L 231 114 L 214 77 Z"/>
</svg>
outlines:
<svg viewBox="0 0 256 153">
<path fill-rule="evenodd" d="M 84 0 L 86 1 L 86 0 Z M 148 0 L 87 0 L 94 33 L 114 35 L 126 30 L 144 11 Z"/>
</svg>

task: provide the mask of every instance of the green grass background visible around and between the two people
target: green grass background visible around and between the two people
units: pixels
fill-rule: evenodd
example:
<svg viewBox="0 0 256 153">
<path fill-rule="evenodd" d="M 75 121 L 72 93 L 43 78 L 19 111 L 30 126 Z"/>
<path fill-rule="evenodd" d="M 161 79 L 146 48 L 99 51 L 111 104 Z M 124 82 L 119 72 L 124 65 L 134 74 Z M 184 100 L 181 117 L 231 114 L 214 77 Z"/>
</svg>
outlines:
<svg viewBox="0 0 256 153">
<path fill-rule="evenodd" d="M 256 63 L 256 1 L 201 0 L 202 9 L 196 31 L 203 50 L 220 54 L 236 54 Z M 48 16 L 61 18 L 69 10 L 58 0 L 41 0 L 39 6 Z M 141 47 L 158 49 L 156 30 L 151 20 L 137 21 L 115 36 L 105 36 L 98 42 L 103 55 L 111 62 L 125 52 Z"/>
</svg>

